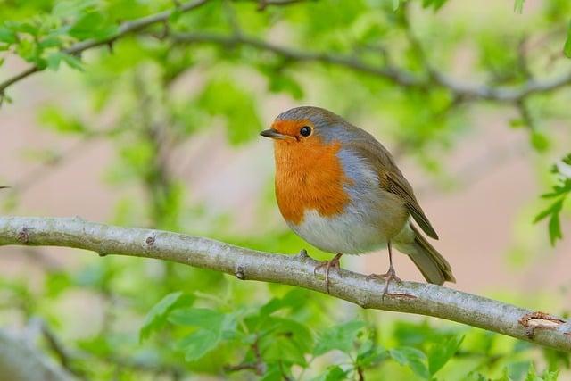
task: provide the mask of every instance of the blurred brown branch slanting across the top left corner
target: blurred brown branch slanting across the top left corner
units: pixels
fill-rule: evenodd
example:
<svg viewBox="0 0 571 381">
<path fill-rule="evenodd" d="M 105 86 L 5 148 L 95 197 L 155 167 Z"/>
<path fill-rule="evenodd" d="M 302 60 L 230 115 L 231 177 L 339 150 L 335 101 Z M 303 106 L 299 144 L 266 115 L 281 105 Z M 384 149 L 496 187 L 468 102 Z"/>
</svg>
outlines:
<svg viewBox="0 0 571 381">
<path fill-rule="evenodd" d="M 149 16 L 141 17 L 140 19 L 125 21 L 120 24 L 119 29 L 117 32 L 110 37 L 106 37 L 103 39 L 87 39 L 85 41 L 81 41 L 77 44 L 74 44 L 67 49 L 64 49 L 63 52 L 67 54 L 81 54 L 87 49 L 91 49 L 96 46 L 111 46 L 116 40 L 120 39 L 121 37 L 125 37 L 130 33 L 137 32 L 139 30 L 145 29 L 153 24 L 159 22 L 166 22 L 169 20 L 170 16 L 174 12 L 188 12 L 193 10 L 194 8 L 198 8 L 199 6 L 206 4 L 209 0 L 194 0 L 192 2 L 181 4 L 177 8 L 170 9 L 168 11 L 155 13 Z M 10 87 L 14 83 L 20 81 L 21 79 L 25 79 L 30 75 L 36 73 L 37 71 L 41 71 L 42 69 L 38 68 L 36 65 L 30 66 L 26 70 L 22 70 L 21 73 L 13 76 L 10 79 L 4 80 L 4 82 L 0 82 L 0 99 L 7 87 Z"/>
</svg>

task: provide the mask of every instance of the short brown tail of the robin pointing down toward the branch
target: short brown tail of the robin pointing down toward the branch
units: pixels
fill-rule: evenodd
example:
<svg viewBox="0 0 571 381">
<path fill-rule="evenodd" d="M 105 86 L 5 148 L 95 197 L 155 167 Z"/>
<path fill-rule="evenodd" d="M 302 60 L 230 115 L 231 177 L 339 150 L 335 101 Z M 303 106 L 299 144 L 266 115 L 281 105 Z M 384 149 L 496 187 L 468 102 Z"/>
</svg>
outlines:
<svg viewBox="0 0 571 381">
<path fill-rule="evenodd" d="M 396 247 L 410 256 L 428 283 L 442 285 L 445 281 L 456 282 L 450 263 L 434 249 L 432 244 L 426 241 L 426 238 L 412 224 L 410 224 L 410 229 L 412 235 L 410 235 L 410 240 L 407 240 L 409 242 L 407 244 L 397 242 Z"/>
</svg>

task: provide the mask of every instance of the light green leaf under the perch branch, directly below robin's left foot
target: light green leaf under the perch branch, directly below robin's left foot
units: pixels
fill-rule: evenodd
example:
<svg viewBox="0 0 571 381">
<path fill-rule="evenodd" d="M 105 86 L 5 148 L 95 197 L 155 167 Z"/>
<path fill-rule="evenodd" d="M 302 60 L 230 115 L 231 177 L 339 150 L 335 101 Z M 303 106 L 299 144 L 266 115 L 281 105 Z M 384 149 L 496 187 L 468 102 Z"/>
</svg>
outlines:
<svg viewBox="0 0 571 381">
<path fill-rule="evenodd" d="M 339 326 L 327 328 L 319 335 L 313 353 L 319 356 L 333 350 L 351 352 L 357 335 L 363 327 L 365 327 L 365 322 L 352 320 Z"/>
</svg>

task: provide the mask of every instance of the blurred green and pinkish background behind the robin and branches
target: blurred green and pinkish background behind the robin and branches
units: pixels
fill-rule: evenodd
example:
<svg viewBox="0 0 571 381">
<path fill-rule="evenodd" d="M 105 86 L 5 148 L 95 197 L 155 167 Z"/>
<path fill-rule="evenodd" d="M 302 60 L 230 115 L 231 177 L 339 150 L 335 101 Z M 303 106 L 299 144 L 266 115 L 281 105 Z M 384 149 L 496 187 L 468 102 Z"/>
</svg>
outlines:
<svg viewBox="0 0 571 381">
<path fill-rule="evenodd" d="M 571 4 L 205 3 L 81 56 L 56 56 L 77 41 L 112 36 L 121 21 L 175 5 L 4 2 L 0 82 L 30 64 L 46 67 L 5 89 L 0 185 L 12 188 L 0 194 L 4 215 L 79 216 L 275 253 L 306 248 L 329 259 L 294 236 L 279 215 L 272 146 L 258 136 L 278 113 L 317 105 L 367 129 L 394 154 L 441 237 L 434 245 L 454 270 L 451 287 L 568 314 L 568 206 L 561 216 L 564 238 L 555 245 L 547 221 L 534 224 L 534 218 L 550 205 L 540 195 L 558 181 L 551 167 L 571 146 L 571 80 L 509 100 L 460 90 L 517 89 L 563 78 Z M 19 40 L 10 42 L 10 33 Z M 42 46 L 50 38 L 54 42 Z M 411 80 L 402 80 L 402 73 Z M 347 367 L 336 352 L 309 363 L 280 362 L 286 370 L 277 378 L 270 378 L 271 356 L 264 358 L 265 372 L 228 370 L 228 364 L 256 357 L 247 341 L 224 342 L 185 360 L 184 348 L 181 354 L 170 345 L 186 335 L 184 327 L 164 322 L 151 339 L 138 342 L 145 315 L 167 294 L 182 291 L 212 311 L 257 311 L 291 287 L 70 249 L 0 251 L 0 327 L 26 329 L 41 321 L 68 348 L 63 368 L 73 377 L 312 379 L 338 364 L 343 377 L 360 379 L 356 362 Z M 387 254 L 345 256 L 342 266 L 384 272 Z M 406 257 L 396 256 L 395 267 L 399 277 L 423 281 Z M 538 375 L 559 369 L 559 379 L 571 377 L 568 355 L 531 344 L 437 319 L 362 311 L 320 294 L 296 297 L 306 302 L 288 306 L 285 316 L 309 327 L 318 342 L 320 329 L 347 320 L 367 322 L 360 335 L 376 332 L 371 342 L 380 347 L 415 348 L 428 357 L 439 340 L 464 337 L 453 359 L 429 377 L 508 374 L 516 380 L 532 363 Z M 49 340 L 37 342 L 62 363 Z M 388 357 L 363 366 L 367 379 L 426 378 Z"/>
</svg>

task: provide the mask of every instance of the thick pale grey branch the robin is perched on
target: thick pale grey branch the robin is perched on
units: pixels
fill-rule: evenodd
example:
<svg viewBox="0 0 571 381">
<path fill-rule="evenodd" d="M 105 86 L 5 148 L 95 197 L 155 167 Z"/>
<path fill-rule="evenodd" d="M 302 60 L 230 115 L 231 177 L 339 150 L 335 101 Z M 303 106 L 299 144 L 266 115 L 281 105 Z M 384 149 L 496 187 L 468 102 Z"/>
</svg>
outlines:
<svg viewBox="0 0 571 381">
<path fill-rule="evenodd" d="M 83 219 L 2 217 L 0 246 L 8 244 L 65 246 L 100 255 L 116 254 L 176 261 L 213 269 L 238 279 L 300 286 L 326 292 L 319 263 L 302 251 L 296 256 L 263 253 L 197 236 L 160 230 L 120 228 Z M 409 312 L 449 319 L 510 335 L 559 351 L 571 352 L 571 323 L 539 311 L 530 311 L 451 288 L 415 282 L 384 285 L 342 270 L 332 274 L 331 296 L 362 308 Z"/>
</svg>

